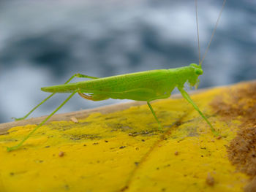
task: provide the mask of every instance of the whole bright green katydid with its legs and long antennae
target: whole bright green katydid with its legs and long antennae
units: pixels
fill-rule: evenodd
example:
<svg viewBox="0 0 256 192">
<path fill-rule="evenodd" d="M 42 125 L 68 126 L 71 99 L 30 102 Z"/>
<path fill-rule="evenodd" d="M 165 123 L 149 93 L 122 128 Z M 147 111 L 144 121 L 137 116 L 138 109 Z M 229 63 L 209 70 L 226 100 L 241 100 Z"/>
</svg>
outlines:
<svg viewBox="0 0 256 192">
<path fill-rule="evenodd" d="M 219 18 L 222 14 L 222 10 L 225 6 L 225 1 L 223 1 L 222 9 L 219 12 L 219 17 L 215 25 L 214 31 L 211 34 L 211 39 L 206 48 L 206 52 L 203 55 L 202 60 L 200 61 L 200 45 L 199 45 L 199 34 L 198 34 L 198 24 L 197 24 L 197 40 L 198 40 L 198 52 L 199 52 L 199 64 L 190 64 L 189 66 L 179 67 L 175 69 L 158 69 L 151 70 L 146 72 L 136 72 L 131 74 L 121 74 L 111 77 L 91 77 L 85 74 L 74 74 L 72 77 L 67 80 L 63 85 L 54 85 L 50 87 L 41 88 L 42 91 L 50 92 L 50 96 L 41 101 L 36 107 L 34 107 L 27 115 L 23 118 L 15 118 L 15 120 L 23 120 L 27 118 L 31 112 L 37 109 L 41 104 L 50 99 L 56 93 L 71 93 L 62 104 L 56 108 L 53 112 L 48 115 L 45 120 L 42 120 L 36 128 L 34 128 L 22 141 L 13 147 L 7 147 L 8 151 L 16 150 L 20 147 L 23 142 L 25 142 L 31 134 L 33 134 L 37 129 L 42 126 L 51 116 L 53 116 L 64 104 L 78 93 L 84 99 L 89 99 L 91 101 L 102 101 L 105 99 L 131 99 L 135 101 L 146 101 L 149 109 L 154 115 L 155 120 L 159 125 L 159 128 L 162 129 L 162 126 L 157 118 L 156 113 L 151 107 L 150 101 L 157 99 L 167 99 L 170 97 L 171 92 L 174 88 L 178 88 L 178 91 L 181 92 L 181 95 L 186 99 L 192 106 L 199 112 L 201 117 L 206 120 L 208 126 L 210 126 L 211 131 L 215 136 L 219 133 L 214 129 L 211 123 L 208 121 L 203 112 L 199 110 L 194 101 L 190 98 L 189 94 L 184 90 L 184 84 L 187 82 L 191 87 L 198 85 L 198 77 L 203 74 L 203 69 L 201 65 L 203 60 L 208 52 L 209 45 L 211 40 L 214 37 L 214 32 L 216 31 Z M 197 0 L 195 0 L 196 8 L 196 20 L 197 20 Z M 89 78 L 91 80 L 69 83 L 73 78 Z"/>
</svg>

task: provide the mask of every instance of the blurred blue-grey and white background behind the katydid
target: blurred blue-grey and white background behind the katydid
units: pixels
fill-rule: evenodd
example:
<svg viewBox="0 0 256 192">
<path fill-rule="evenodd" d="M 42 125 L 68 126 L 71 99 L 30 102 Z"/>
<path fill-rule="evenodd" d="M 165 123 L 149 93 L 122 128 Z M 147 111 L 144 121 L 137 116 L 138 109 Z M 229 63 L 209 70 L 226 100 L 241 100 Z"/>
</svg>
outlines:
<svg viewBox="0 0 256 192">
<path fill-rule="evenodd" d="M 198 0 L 201 52 L 222 0 Z M 256 1 L 227 0 L 203 63 L 200 87 L 256 79 Z M 0 1 L 0 123 L 45 99 L 41 87 L 80 72 L 96 77 L 198 63 L 195 1 Z M 80 81 L 82 79 L 76 79 Z M 58 94 L 31 117 L 48 115 Z M 124 100 L 74 96 L 59 112 Z"/>
</svg>

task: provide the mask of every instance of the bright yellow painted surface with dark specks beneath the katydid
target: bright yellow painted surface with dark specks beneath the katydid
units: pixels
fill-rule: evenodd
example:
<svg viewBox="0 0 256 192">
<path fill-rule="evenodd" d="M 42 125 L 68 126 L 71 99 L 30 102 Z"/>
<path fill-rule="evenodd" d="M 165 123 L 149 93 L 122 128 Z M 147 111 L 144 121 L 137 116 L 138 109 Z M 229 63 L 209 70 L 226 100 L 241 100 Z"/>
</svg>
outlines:
<svg viewBox="0 0 256 192">
<path fill-rule="evenodd" d="M 221 139 L 184 99 L 152 104 L 163 131 L 146 105 L 49 123 L 8 153 L 35 126 L 11 128 L 0 136 L 0 191 L 243 191 L 248 177 L 226 151 L 240 122 L 221 120 L 209 105 L 223 90 L 192 96 Z"/>
</svg>

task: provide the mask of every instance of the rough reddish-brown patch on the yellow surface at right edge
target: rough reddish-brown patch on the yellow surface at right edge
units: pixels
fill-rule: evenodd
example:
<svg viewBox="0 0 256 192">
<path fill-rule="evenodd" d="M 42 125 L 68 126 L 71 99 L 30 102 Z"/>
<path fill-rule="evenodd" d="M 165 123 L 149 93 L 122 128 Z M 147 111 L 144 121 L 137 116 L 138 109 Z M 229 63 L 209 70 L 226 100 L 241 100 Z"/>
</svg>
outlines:
<svg viewBox="0 0 256 192">
<path fill-rule="evenodd" d="M 211 103 L 223 120 L 241 120 L 239 131 L 227 147 L 228 158 L 237 169 L 252 178 L 256 176 L 256 82 L 241 83 L 230 88 Z M 256 179 L 245 191 L 255 191 Z"/>
</svg>

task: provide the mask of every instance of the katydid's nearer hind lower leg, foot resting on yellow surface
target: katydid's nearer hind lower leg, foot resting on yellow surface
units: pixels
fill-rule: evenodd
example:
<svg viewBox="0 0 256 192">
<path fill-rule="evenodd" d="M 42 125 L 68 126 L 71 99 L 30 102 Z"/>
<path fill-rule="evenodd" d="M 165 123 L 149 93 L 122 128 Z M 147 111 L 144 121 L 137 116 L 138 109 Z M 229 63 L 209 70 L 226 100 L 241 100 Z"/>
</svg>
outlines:
<svg viewBox="0 0 256 192">
<path fill-rule="evenodd" d="M 68 97 L 65 101 L 63 101 L 63 103 L 62 103 L 59 107 L 56 108 L 56 110 L 54 110 L 52 113 L 50 113 L 50 115 L 48 115 L 47 118 L 45 118 L 44 120 L 42 120 L 42 122 L 39 123 L 39 125 L 38 125 L 36 128 L 34 128 L 21 142 L 19 142 L 18 145 L 15 145 L 15 146 L 13 146 L 13 147 L 7 147 L 7 151 L 17 150 L 18 147 L 20 147 L 20 146 L 23 144 L 23 142 L 26 142 L 26 139 L 29 139 L 29 137 L 31 136 L 31 134 L 34 134 L 34 131 L 37 131 L 37 129 L 38 129 L 40 126 L 42 126 L 43 124 L 45 124 L 45 122 L 46 122 L 51 116 L 53 116 L 59 109 L 61 109 L 61 107 L 63 107 L 64 104 L 66 104 L 67 101 L 69 101 L 69 99 L 71 99 L 72 96 L 74 96 L 75 93 L 77 93 L 77 92 L 78 92 L 78 90 L 77 90 L 77 91 L 74 91 L 72 94 L 70 94 L 69 97 Z"/>
</svg>

